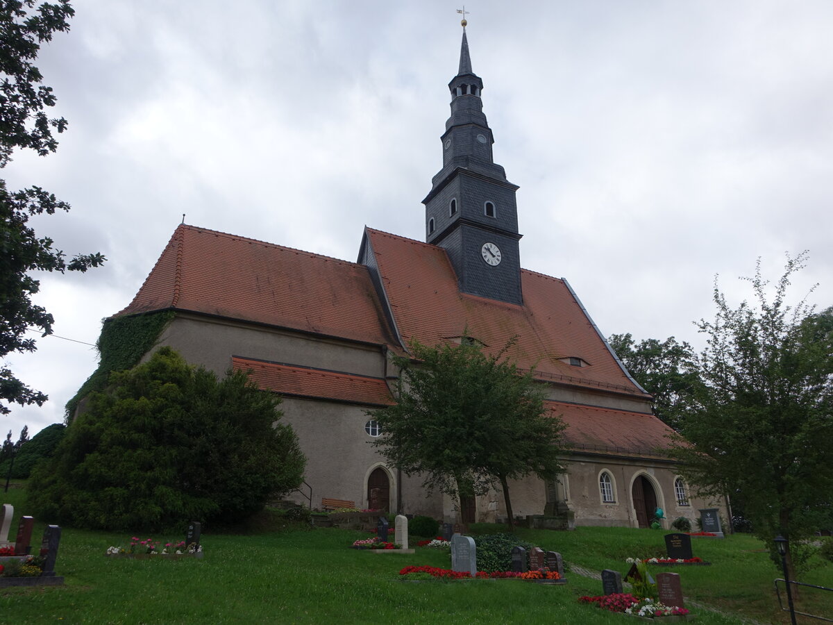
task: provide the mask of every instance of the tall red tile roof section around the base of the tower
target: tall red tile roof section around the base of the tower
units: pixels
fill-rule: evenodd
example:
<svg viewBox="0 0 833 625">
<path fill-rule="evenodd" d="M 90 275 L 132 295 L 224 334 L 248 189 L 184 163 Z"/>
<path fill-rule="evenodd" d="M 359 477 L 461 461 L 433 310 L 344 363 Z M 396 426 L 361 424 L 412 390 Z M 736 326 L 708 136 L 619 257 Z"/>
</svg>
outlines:
<svg viewBox="0 0 833 625">
<path fill-rule="evenodd" d="M 466 329 L 487 349 L 510 352 L 538 377 L 645 395 L 627 377 L 564 280 L 521 269 L 523 306 L 460 293 L 445 250 L 366 228 L 403 341 L 433 345 Z M 581 358 L 574 367 L 561 358 Z"/>
</svg>

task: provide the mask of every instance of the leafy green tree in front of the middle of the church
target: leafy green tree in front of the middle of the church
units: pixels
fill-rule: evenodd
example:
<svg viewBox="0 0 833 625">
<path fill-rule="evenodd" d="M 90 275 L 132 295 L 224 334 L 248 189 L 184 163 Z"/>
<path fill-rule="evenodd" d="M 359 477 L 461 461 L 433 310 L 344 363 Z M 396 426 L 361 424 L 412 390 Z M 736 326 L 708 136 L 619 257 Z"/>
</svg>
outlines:
<svg viewBox="0 0 833 625">
<path fill-rule="evenodd" d="M 461 344 L 410 344 L 414 360 L 395 357 L 401 370 L 397 403 L 369 411 L 382 428 L 388 462 L 423 486 L 452 497 L 483 493 L 499 482 L 513 527 L 508 480 L 534 473 L 555 479 L 563 468 L 561 419 L 546 412 L 533 372 L 523 375 L 505 358 L 463 337 Z"/>
</svg>

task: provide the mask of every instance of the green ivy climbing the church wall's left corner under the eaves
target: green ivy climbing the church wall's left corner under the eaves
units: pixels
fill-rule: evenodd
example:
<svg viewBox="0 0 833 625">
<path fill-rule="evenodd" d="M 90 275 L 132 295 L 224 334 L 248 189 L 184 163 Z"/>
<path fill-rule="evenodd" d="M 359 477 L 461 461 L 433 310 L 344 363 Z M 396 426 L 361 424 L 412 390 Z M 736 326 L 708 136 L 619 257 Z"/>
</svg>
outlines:
<svg viewBox="0 0 833 625">
<path fill-rule="evenodd" d="M 162 330 L 175 316 L 176 313 L 172 310 L 165 310 L 105 319 L 102 323 L 102 333 L 96 343 L 98 368 L 67 402 L 67 423 L 72 421 L 78 403 L 83 398 L 107 386 L 110 373 L 135 367 L 142 356 L 156 344 Z"/>
</svg>

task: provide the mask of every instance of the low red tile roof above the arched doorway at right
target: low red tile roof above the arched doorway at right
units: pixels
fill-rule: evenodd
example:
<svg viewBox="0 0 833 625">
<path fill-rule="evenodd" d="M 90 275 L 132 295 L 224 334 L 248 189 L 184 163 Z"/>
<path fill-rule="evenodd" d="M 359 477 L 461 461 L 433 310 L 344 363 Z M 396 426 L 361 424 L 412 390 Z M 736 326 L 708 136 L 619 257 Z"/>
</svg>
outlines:
<svg viewBox="0 0 833 625">
<path fill-rule="evenodd" d="M 651 414 L 571 403 L 545 402 L 566 423 L 564 437 L 576 451 L 656 454 L 670 447 L 674 430 Z"/>
</svg>

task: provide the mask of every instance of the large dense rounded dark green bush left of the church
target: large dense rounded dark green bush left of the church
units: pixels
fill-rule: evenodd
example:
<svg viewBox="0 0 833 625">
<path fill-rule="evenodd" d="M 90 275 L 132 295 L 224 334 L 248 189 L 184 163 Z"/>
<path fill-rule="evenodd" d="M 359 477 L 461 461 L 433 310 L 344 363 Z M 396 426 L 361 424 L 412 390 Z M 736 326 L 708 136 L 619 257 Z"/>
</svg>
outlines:
<svg viewBox="0 0 833 625">
<path fill-rule="evenodd" d="M 49 463 L 29 504 L 76 527 L 158 531 L 192 520 L 235 522 L 301 483 L 306 458 L 279 399 L 247 373 L 225 378 L 171 348 L 111 374 Z"/>
</svg>

